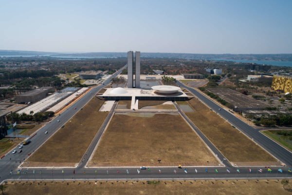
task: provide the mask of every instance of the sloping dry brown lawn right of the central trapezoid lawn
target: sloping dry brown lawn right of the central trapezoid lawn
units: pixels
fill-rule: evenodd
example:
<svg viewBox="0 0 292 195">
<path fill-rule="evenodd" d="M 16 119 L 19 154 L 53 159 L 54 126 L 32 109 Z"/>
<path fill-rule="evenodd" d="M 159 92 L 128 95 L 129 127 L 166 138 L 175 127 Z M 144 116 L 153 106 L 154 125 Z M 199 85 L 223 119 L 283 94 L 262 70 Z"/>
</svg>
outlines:
<svg viewBox="0 0 292 195">
<path fill-rule="evenodd" d="M 180 103 L 178 101 L 178 103 Z M 195 112 L 186 112 L 201 132 L 237 165 L 274 165 L 276 159 L 211 111 L 197 98 L 188 101 Z"/>
</svg>

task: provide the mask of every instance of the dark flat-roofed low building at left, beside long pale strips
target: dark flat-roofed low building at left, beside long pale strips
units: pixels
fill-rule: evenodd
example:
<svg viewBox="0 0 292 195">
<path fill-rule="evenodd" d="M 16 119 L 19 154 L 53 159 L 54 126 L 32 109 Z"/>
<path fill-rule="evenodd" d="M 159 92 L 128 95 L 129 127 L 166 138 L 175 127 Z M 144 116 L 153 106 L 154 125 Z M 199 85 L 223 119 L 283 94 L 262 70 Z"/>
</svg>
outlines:
<svg viewBox="0 0 292 195">
<path fill-rule="evenodd" d="M 16 96 L 16 101 L 18 103 L 37 102 L 42 98 L 45 98 L 49 93 L 53 92 L 55 92 L 54 87 L 40 87 L 38 89 L 28 91 Z"/>
</svg>

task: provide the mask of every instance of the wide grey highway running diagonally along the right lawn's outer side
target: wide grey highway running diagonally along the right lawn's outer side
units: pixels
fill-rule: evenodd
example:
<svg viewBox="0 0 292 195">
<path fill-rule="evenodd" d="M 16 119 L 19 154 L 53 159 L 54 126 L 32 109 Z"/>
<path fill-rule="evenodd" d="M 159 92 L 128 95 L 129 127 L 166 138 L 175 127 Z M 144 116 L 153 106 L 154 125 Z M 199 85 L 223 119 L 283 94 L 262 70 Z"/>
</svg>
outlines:
<svg viewBox="0 0 292 195">
<path fill-rule="evenodd" d="M 252 138 L 258 145 L 263 147 L 265 150 L 270 152 L 273 156 L 278 158 L 280 161 L 284 162 L 287 166 L 292 167 L 292 153 L 273 140 L 269 139 L 268 137 L 262 135 L 258 130 L 251 127 L 247 123 L 243 122 L 232 113 L 224 110 L 215 102 L 211 101 L 209 98 L 206 98 L 197 90 L 190 88 L 183 83 L 178 81 L 178 84 L 190 92 L 192 92 L 195 96 L 197 96 L 201 101 L 207 104 L 211 109 L 216 111 L 221 117 L 228 120 L 231 124 L 233 124 L 237 129 L 239 129 L 242 133 L 247 135 L 248 137 Z M 221 110 L 219 110 L 221 109 Z M 260 154 L 259 154 L 260 155 Z"/>
</svg>

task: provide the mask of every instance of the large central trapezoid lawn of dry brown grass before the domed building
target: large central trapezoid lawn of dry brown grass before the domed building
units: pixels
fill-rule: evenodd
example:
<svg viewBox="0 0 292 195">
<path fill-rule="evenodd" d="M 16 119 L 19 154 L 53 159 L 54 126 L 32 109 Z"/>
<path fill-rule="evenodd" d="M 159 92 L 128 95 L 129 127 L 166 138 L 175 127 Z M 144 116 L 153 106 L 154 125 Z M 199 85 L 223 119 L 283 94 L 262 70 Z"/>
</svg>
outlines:
<svg viewBox="0 0 292 195">
<path fill-rule="evenodd" d="M 116 113 L 89 166 L 179 164 L 219 163 L 178 113 Z"/>
</svg>

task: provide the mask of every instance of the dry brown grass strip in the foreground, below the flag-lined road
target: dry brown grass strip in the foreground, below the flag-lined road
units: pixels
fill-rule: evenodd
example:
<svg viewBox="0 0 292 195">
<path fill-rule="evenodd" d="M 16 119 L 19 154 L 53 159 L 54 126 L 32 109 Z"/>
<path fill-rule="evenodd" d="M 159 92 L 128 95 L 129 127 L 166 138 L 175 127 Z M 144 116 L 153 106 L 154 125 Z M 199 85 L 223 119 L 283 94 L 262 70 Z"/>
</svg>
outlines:
<svg viewBox="0 0 292 195">
<path fill-rule="evenodd" d="M 291 195 L 290 180 L 8 182 L 5 195 Z"/>
</svg>

